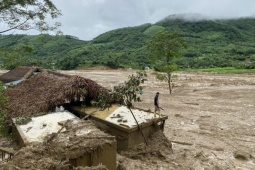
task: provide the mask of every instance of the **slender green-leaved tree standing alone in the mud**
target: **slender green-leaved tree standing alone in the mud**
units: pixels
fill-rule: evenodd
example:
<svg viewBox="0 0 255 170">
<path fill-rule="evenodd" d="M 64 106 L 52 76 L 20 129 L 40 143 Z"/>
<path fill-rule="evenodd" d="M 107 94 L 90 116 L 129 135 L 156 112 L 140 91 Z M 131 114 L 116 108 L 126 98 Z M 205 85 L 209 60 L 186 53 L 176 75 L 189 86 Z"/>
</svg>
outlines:
<svg viewBox="0 0 255 170">
<path fill-rule="evenodd" d="M 163 31 L 148 40 L 146 45 L 150 52 L 149 61 L 161 73 L 157 78 L 168 82 L 171 94 L 172 73 L 177 70 L 175 59 L 181 56 L 181 49 L 187 47 L 185 40 L 177 32 Z"/>
</svg>

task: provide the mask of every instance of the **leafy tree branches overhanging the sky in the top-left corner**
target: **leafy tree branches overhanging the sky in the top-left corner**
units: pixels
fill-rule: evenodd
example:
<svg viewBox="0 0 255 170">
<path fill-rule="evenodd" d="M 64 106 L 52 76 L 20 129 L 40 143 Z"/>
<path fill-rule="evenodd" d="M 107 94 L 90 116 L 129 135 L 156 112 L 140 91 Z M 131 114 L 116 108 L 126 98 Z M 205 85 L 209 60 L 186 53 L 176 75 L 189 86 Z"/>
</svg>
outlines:
<svg viewBox="0 0 255 170">
<path fill-rule="evenodd" d="M 11 30 L 53 31 L 60 23 L 50 26 L 45 19 L 54 19 L 60 15 L 61 12 L 51 0 L 1 0 L 0 34 Z"/>
</svg>

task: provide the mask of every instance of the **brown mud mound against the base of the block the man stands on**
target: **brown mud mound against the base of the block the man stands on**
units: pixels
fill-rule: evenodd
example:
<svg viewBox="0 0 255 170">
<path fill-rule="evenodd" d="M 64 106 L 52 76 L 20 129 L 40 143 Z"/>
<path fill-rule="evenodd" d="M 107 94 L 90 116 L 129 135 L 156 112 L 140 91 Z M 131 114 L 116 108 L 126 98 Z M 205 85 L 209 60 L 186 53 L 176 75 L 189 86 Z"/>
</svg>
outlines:
<svg viewBox="0 0 255 170">
<path fill-rule="evenodd" d="M 157 161 L 167 162 L 172 153 L 171 142 L 158 130 L 148 139 L 147 145 L 143 143 L 121 151 L 117 157 L 117 169 L 159 169 Z"/>
</svg>

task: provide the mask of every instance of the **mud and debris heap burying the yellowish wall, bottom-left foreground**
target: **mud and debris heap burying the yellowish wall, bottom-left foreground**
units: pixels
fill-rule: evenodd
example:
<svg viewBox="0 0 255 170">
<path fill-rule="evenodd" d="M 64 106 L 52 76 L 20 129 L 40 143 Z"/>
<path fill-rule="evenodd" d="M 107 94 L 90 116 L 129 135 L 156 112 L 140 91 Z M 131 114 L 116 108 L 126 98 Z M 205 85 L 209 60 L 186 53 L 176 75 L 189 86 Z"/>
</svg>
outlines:
<svg viewBox="0 0 255 170">
<path fill-rule="evenodd" d="M 105 159 L 111 160 L 112 166 L 116 167 L 115 137 L 100 131 L 91 121 L 70 120 L 65 125 L 66 131 L 53 133 L 44 139 L 43 144 L 35 142 L 20 149 L 3 169 L 84 169 L 86 166 L 105 165 Z M 106 149 L 105 153 L 105 148 L 111 148 L 111 151 Z M 86 155 L 91 160 L 85 159 Z M 108 169 L 109 166 L 106 165 Z M 103 170 L 106 167 L 98 168 Z"/>
</svg>

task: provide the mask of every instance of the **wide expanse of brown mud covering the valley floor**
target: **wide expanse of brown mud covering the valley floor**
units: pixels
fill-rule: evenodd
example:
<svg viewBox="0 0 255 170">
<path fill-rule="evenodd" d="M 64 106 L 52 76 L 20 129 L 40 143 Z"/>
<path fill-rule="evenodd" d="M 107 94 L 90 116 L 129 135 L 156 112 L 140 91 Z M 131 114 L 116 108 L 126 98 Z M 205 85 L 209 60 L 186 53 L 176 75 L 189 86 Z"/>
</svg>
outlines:
<svg viewBox="0 0 255 170">
<path fill-rule="evenodd" d="M 92 79 L 111 88 L 133 70 L 61 71 Z M 0 73 L 1 74 L 1 73 Z M 153 110 L 160 92 L 161 113 L 168 116 L 164 134 L 156 133 L 148 146 L 139 145 L 117 155 L 119 169 L 255 169 L 255 74 L 175 74 L 170 95 L 167 84 L 148 71 L 142 102 Z M 172 150 L 167 141 L 172 141 Z"/>
</svg>

